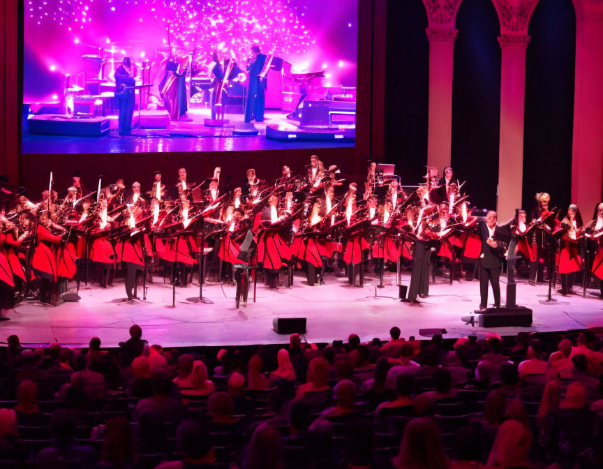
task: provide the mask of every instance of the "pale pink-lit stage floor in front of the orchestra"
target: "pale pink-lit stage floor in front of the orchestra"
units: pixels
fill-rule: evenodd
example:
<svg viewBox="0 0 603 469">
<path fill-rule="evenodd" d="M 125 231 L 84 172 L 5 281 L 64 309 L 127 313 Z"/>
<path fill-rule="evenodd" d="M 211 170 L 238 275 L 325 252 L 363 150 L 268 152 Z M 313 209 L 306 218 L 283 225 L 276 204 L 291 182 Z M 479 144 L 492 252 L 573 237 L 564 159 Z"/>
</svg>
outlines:
<svg viewBox="0 0 603 469">
<path fill-rule="evenodd" d="M 17 334 L 22 343 L 59 342 L 87 345 L 92 336 L 101 338 L 103 346 L 115 346 L 128 338 L 133 324 L 142 327 L 149 343 L 163 346 L 253 345 L 286 343 L 288 336 L 272 330 L 277 317 L 305 317 L 308 342 L 331 342 L 355 332 L 362 341 L 373 337 L 387 339 L 389 328 L 400 327 L 402 336 L 415 335 L 419 329 L 445 327 L 446 337 L 492 331 L 502 335 L 523 331 L 560 331 L 603 325 L 603 301 L 587 294 L 562 297 L 546 304 L 547 285 L 517 286 L 517 302 L 533 309 L 531 328 L 500 327 L 480 329 L 465 325 L 461 316 L 469 315 L 479 305 L 479 284 L 458 282 L 449 285 L 437 278 L 430 286 L 430 297 L 420 305 L 401 303 L 394 274 L 387 274 L 385 288 L 377 289 L 375 278 L 368 277 L 364 288 L 352 287 L 345 278 L 326 276 L 325 285 L 310 287 L 300 273 L 293 288 L 268 290 L 258 283 L 257 301 L 237 310 L 234 287 L 205 285 L 204 297 L 211 303 L 192 304 L 187 298 L 198 296 L 199 288 L 177 288 L 177 306 L 172 307 L 172 287 L 155 278 L 149 286 L 147 301 L 124 301 L 124 284 L 120 281 L 103 290 L 96 285 L 80 290 L 82 299 L 56 307 L 24 302 L 6 314 L 10 320 L 0 322 L 0 341 Z M 408 285 L 409 274 L 403 274 Z M 75 287 L 74 283 L 71 283 Z M 82 284 L 83 286 L 83 284 Z M 501 283 L 503 292 L 505 284 Z M 376 295 L 391 297 L 382 298 Z M 594 292 L 594 290 L 593 290 Z M 139 290 L 142 297 L 142 291 Z M 250 293 L 250 299 L 251 299 Z"/>
</svg>

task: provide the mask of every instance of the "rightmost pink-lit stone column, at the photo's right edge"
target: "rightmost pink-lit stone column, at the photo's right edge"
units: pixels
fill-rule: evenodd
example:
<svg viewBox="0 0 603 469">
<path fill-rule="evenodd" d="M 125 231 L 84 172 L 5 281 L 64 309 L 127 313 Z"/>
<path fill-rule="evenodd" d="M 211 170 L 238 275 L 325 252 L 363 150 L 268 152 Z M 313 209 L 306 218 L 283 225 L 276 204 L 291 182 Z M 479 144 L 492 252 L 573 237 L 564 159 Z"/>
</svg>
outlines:
<svg viewBox="0 0 603 469">
<path fill-rule="evenodd" d="M 578 3 L 578 4 L 576 4 Z M 572 202 L 588 219 L 603 198 L 603 1 L 576 5 Z M 581 7 L 581 8 L 580 8 Z"/>
</svg>

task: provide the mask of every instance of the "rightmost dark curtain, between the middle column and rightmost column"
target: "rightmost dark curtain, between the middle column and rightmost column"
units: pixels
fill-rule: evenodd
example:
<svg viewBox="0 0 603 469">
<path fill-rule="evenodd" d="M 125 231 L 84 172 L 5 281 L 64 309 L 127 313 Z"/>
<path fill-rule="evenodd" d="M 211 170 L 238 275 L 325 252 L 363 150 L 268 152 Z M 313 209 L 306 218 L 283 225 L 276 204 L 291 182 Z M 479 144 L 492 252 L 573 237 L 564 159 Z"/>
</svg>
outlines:
<svg viewBox="0 0 603 469">
<path fill-rule="evenodd" d="M 540 0 L 528 28 L 526 119 L 523 133 L 523 208 L 535 194 L 549 207 L 571 201 L 576 14 L 571 0 Z M 603 60 L 603 58 L 602 58 Z M 592 207 L 581 207 L 590 214 Z"/>
</svg>

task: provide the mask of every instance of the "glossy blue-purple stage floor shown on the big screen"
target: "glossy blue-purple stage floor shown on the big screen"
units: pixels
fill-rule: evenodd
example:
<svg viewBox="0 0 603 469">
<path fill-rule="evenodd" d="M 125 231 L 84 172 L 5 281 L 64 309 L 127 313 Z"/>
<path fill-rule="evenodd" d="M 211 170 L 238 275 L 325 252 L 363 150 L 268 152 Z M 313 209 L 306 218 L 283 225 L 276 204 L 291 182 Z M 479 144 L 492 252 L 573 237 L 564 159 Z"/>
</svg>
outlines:
<svg viewBox="0 0 603 469">
<path fill-rule="evenodd" d="M 290 140 L 281 142 L 266 138 L 266 126 L 297 128 L 282 112 L 267 111 L 265 121 L 253 123 L 258 135 L 229 135 L 223 128 L 204 126 L 209 109 L 191 109 L 192 122 L 172 122 L 167 129 L 135 131 L 137 135 L 117 135 L 117 123 L 111 124 L 110 135 L 103 137 L 77 137 L 73 135 L 34 135 L 23 133 L 24 154 L 119 154 L 140 152 L 191 152 L 191 151 L 245 151 L 306 148 L 354 147 L 353 143 L 307 142 Z M 243 114 L 226 114 L 230 128 L 248 128 Z M 117 119 L 113 116 L 110 119 Z M 228 127 L 226 128 L 228 129 Z"/>
</svg>

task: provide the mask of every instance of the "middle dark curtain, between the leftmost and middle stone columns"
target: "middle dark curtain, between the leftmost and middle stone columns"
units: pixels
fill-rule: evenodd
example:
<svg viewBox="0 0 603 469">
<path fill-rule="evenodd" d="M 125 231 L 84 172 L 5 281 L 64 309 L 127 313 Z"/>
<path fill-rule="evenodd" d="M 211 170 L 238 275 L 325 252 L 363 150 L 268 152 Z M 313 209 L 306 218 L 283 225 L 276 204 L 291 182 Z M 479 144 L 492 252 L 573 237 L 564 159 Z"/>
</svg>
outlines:
<svg viewBox="0 0 603 469">
<path fill-rule="evenodd" d="M 470 202 L 493 209 L 498 185 L 500 27 L 491 1 L 463 0 L 456 29 L 452 167 L 461 181 L 468 181 Z"/>
</svg>

